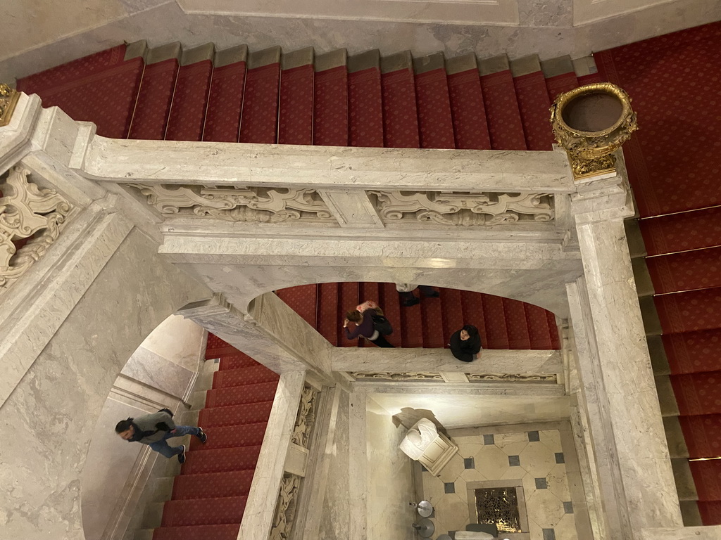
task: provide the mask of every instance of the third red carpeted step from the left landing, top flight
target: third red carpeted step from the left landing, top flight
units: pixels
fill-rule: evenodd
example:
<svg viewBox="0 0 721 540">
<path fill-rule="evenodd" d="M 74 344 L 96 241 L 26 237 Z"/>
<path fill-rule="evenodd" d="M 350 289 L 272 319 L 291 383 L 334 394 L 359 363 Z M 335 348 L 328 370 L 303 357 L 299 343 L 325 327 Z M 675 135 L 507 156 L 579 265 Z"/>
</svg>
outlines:
<svg viewBox="0 0 721 540">
<path fill-rule="evenodd" d="M 243 110 L 246 67 L 245 60 L 218 66 L 216 59 L 208 94 L 208 109 L 205 112 L 203 140 L 218 143 L 237 142 Z"/>
</svg>

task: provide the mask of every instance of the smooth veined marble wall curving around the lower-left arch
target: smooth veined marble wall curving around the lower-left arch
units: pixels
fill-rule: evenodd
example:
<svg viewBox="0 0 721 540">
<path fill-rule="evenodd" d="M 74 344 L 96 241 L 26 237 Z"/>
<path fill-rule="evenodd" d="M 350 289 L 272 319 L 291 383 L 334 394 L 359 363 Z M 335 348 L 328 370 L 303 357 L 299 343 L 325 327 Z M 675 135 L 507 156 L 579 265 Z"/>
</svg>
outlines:
<svg viewBox="0 0 721 540">
<path fill-rule="evenodd" d="M 80 479 L 115 378 L 153 328 L 207 295 L 144 235 L 125 238 L 0 410 L 4 534 L 84 538 Z"/>
</svg>

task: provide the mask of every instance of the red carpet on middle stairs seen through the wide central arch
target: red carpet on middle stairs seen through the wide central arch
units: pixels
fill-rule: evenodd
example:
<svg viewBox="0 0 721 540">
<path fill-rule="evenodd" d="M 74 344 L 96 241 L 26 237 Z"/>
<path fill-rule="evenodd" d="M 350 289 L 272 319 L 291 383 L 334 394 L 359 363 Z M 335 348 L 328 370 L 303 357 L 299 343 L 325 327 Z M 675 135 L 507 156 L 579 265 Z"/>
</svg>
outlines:
<svg viewBox="0 0 721 540">
<path fill-rule="evenodd" d="M 479 292 L 443 288 L 438 292 L 440 297 L 427 298 L 417 289 L 414 294 L 420 297 L 420 303 L 410 307 L 401 305 L 392 283 L 322 283 L 280 289 L 276 294 L 298 315 L 307 317 L 306 321 L 316 320 L 314 328 L 336 346 L 359 345 L 357 339 L 345 339 L 342 320 L 346 311 L 373 300 L 393 326 L 388 341 L 397 347 L 443 348 L 452 333 L 464 324 L 472 324 L 477 326 L 484 348 L 560 348 L 555 315 L 542 307 Z M 309 298 L 320 299 L 314 317 L 307 311 Z M 231 373 L 224 377 L 231 377 Z"/>
</svg>

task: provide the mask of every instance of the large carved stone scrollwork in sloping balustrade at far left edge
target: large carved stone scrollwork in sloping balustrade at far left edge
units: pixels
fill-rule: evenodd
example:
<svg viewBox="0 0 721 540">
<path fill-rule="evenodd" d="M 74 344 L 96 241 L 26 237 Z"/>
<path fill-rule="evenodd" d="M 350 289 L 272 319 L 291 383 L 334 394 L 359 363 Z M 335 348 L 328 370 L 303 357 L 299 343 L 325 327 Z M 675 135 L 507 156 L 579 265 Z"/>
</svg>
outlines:
<svg viewBox="0 0 721 540">
<path fill-rule="evenodd" d="M 0 294 L 48 251 L 72 209 L 52 189 L 40 189 L 28 181 L 29 174 L 25 168 L 14 167 L 0 184 Z M 30 240 L 16 253 L 13 240 L 26 238 Z"/>
</svg>

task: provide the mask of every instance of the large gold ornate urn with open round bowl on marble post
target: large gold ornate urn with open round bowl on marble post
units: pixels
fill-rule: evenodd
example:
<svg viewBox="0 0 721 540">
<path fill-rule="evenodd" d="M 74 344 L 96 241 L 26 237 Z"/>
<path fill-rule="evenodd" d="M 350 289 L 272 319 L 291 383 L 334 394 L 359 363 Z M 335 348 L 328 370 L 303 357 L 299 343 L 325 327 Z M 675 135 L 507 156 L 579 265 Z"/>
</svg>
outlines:
<svg viewBox="0 0 721 540">
<path fill-rule="evenodd" d="M 615 171 L 614 151 L 638 129 L 631 98 L 611 83 L 587 84 L 558 96 L 551 125 L 576 179 Z"/>
</svg>

